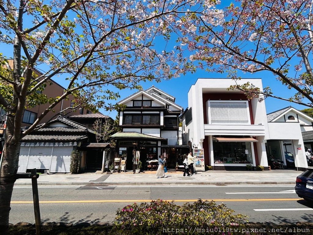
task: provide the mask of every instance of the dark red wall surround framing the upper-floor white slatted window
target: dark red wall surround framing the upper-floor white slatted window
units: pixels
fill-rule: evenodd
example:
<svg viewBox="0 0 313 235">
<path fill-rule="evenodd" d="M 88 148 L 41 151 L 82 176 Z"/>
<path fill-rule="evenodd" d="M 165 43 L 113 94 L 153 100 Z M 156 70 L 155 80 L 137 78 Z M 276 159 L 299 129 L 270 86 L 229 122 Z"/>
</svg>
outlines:
<svg viewBox="0 0 313 235">
<path fill-rule="evenodd" d="M 203 120 L 204 124 L 207 123 L 207 112 L 206 112 L 206 107 L 205 103 L 208 100 L 247 100 L 247 97 L 242 94 L 242 93 L 203 93 L 202 94 L 202 103 L 203 103 Z M 249 105 L 249 112 L 250 112 L 250 120 L 251 124 L 254 124 L 254 118 L 253 118 L 253 113 L 252 113 L 252 105 L 251 101 L 248 101 Z"/>
</svg>

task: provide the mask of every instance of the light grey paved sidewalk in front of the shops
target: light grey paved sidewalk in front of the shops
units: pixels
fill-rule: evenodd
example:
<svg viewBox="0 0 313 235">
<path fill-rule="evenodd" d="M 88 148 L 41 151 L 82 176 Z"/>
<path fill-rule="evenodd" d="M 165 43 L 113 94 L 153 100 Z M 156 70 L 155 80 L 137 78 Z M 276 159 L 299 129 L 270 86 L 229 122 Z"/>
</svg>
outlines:
<svg viewBox="0 0 313 235">
<path fill-rule="evenodd" d="M 167 172 L 167 178 L 157 179 L 156 171 L 139 174 L 126 173 L 70 173 L 42 174 L 37 179 L 38 185 L 247 185 L 247 184 L 295 184 L 296 177 L 302 171 L 225 171 L 209 170 L 183 177 L 182 172 Z M 30 179 L 18 179 L 14 185 L 31 185 Z"/>
</svg>

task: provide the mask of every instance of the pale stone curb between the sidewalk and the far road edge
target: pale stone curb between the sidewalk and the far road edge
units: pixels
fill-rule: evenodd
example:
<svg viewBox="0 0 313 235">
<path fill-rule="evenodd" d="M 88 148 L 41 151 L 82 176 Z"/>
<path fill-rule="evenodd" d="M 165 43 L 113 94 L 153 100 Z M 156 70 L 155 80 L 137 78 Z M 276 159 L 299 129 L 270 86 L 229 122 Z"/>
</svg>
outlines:
<svg viewBox="0 0 313 235">
<path fill-rule="evenodd" d="M 295 185 L 295 181 L 280 182 L 38 182 L 38 185 Z M 27 186 L 32 183 L 15 183 L 14 186 Z"/>
</svg>

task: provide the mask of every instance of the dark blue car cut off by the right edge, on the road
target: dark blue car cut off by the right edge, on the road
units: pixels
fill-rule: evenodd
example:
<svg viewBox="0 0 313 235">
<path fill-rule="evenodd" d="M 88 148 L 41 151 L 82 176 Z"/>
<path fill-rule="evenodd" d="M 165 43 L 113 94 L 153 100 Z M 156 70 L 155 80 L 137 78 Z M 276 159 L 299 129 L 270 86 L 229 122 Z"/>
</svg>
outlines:
<svg viewBox="0 0 313 235">
<path fill-rule="evenodd" d="M 295 192 L 305 201 L 313 202 L 313 169 L 308 169 L 295 180 Z"/>
</svg>

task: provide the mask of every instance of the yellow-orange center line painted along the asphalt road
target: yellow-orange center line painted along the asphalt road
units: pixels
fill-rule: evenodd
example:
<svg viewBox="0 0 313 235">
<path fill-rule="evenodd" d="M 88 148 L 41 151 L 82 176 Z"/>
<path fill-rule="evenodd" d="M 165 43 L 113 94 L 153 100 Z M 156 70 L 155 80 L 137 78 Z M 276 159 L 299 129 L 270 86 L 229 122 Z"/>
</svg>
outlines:
<svg viewBox="0 0 313 235">
<path fill-rule="evenodd" d="M 298 201 L 300 198 L 269 198 L 269 199 L 202 199 L 202 201 Z M 80 201 L 39 201 L 39 203 L 85 203 L 85 202 L 150 202 L 152 200 L 80 200 Z M 155 200 L 154 200 L 155 201 Z M 179 199 L 163 201 L 198 201 L 198 199 Z M 11 201 L 11 203 L 33 203 L 33 201 Z"/>
</svg>

